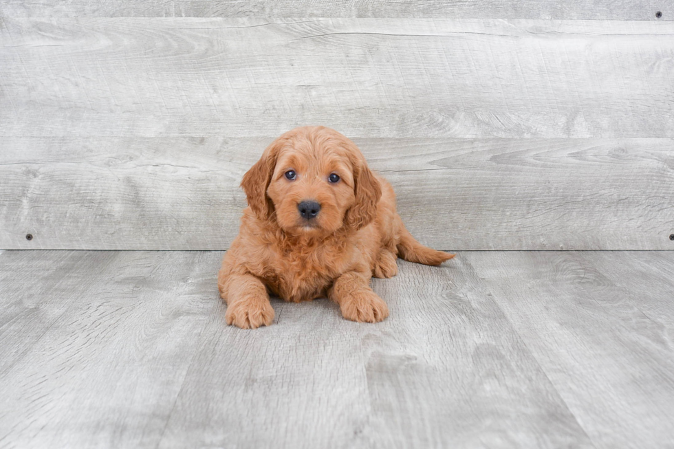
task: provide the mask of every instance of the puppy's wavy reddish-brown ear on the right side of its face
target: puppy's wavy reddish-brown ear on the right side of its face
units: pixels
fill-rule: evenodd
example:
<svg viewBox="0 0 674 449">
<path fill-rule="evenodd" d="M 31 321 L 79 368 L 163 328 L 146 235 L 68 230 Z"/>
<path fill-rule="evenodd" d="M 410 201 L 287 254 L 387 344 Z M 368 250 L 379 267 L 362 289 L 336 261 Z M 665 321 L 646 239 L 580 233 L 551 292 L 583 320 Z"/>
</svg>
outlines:
<svg viewBox="0 0 674 449">
<path fill-rule="evenodd" d="M 362 160 L 360 166 L 354 168 L 354 184 L 356 204 L 347 210 L 345 221 L 347 226 L 358 230 L 376 217 L 377 204 L 382 197 L 382 188 L 365 160 Z"/>
</svg>

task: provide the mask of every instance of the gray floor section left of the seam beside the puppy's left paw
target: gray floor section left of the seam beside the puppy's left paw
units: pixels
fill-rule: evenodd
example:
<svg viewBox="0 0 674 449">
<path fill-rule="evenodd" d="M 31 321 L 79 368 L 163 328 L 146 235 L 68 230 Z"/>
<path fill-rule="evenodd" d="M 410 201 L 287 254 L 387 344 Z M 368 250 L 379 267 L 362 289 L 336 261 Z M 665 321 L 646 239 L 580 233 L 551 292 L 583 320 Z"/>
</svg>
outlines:
<svg viewBox="0 0 674 449">
<path fill-rule="evenodd" d="M 218 303 L 219 259 L 0 254 L 0 446 L 155 447 Z"/>
</svg>

